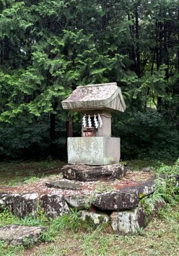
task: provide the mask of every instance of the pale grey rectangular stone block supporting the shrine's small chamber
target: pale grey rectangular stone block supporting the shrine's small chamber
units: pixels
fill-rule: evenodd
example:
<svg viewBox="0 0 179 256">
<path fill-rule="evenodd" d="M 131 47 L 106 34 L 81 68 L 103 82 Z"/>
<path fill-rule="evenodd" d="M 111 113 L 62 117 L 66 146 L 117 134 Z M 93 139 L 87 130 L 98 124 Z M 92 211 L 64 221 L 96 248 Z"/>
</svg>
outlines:
<svg viewBox="0 0 179 256">
<path fill-rule="evenodd" d="M 120 160 L 120 138 L 68 138 L 68 164 L 110 165 Z"/>
</svg>

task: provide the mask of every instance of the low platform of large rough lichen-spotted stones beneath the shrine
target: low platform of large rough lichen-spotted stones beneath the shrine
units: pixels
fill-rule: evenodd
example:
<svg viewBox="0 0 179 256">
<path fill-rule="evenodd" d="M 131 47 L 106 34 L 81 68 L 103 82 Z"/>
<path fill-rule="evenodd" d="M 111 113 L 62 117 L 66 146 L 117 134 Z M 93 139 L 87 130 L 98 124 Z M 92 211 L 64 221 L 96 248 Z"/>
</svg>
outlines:
<svg viewBox="0 0 179 256">
<path fill-rule="evenodd" d="M 116 234 L 134 234 L 145 227 L 166 203 L 163 199 L 152 201 L 149 197 L 156 189 L 152 174 L 138 173 L 139 180 L 135 182 L 132 175 L 136 177 L 135 173 L 128 172 L 123 180 L 45 181 L 39 184 L 39 188 L 45 183 L 48 185 L 44 187 L 43 193 L 40 190 L 34 193 L 1 193 L 0 210 L 5 206 L 14 215 L 24 218 L 27 215 L 35 216 L 40 207 L 48 217 L 55 218 L 69 214 L 70 208 L 76 208 L 80 211 L 81 221 L 94 226 L 109 225 Z M 141 180 L 144 176 L 148 179 Z M 57 183 L 60 183 L 59 189 Z M 62 189 L 65 185 L 66 188 Z M 77 189 L 74 190 L 74 187 Z M 144 196 L 150 207 L 150 216 L 140 201 Z"/>
</svg>

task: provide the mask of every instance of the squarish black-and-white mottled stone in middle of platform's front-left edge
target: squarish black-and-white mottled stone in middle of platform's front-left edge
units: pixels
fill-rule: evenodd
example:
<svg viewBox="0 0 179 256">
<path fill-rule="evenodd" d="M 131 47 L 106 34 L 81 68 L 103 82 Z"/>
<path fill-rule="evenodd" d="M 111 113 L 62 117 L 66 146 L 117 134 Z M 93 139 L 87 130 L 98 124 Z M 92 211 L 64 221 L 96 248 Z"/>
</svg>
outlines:
<svg viewBox="0 0 179 256">
<path fill-rule="evenodd" d="M 69 212 L 63 195 L 45 194 L 41 196 L 40 202 L 41 209 L 51 218 L 62 216 Z"/>
</svg>

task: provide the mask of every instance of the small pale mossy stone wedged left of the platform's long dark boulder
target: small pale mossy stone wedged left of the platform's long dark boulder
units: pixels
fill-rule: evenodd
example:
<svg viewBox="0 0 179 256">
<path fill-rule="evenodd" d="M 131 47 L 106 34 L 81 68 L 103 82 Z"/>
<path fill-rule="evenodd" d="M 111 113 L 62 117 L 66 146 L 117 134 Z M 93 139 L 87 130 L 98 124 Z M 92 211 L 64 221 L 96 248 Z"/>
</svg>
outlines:
<svg viewBox="0 0 179 256">
<path fill-rule="evenodd" d="M 78 195 L 73 194 L 65 197 L 65 200 L 71 207 L 77 208 L 77 210 L 89 209 L 94 201 L 95 196 L 92 195 Z"/>
</svg>

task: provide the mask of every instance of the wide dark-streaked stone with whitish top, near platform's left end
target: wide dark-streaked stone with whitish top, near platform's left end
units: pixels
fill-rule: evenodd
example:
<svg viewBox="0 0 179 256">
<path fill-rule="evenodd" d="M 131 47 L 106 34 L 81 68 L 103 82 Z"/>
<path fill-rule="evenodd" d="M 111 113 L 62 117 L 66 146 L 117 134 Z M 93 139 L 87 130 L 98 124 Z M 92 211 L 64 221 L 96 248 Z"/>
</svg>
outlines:
<svg viewBox="0 0 179 256">
<path fill-rule="evenodd" d="M 35 216 L 39 195 L 37 193 L 11 194 L 5 199 L 9 211 L 18 217 Z"/>
</svg>

